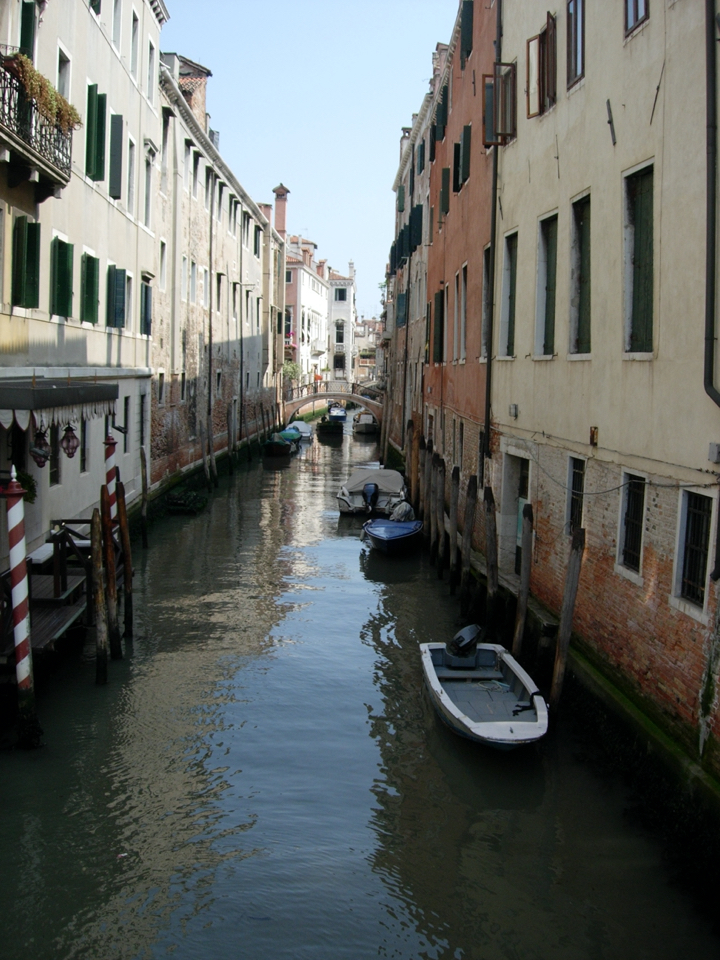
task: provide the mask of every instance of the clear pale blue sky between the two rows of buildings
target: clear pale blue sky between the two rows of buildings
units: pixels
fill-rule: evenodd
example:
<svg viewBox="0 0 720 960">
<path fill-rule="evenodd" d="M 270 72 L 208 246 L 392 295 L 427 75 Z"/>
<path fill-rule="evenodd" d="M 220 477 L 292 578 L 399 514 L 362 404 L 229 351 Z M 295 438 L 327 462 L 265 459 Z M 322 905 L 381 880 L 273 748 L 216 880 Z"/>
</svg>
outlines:
<svg viewBox="0 0 720 960">
<path fill-rule="evenodd" d="M 401 128 L 428 89 L 458 0 L 166 0 L 164 51 L 212 71 L 210 125 L 258 203 L 290 189 L 288 230 L 357 271 L 358 313 L 379 313 L 393 240 Z"/>
</svg>

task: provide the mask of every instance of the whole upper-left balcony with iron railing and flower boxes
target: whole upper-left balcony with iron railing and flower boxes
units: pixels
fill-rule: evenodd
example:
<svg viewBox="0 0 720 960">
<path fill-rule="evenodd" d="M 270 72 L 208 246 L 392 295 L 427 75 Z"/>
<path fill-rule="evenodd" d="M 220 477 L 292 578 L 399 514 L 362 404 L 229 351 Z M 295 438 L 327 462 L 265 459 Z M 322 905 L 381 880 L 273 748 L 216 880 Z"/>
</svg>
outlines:
<svg viewBox="0 0 720 960">
<path fill-rule="evenodd" d="M 35 182 L 41 203 L 70 181 L 72 130 L 47 120 L 25 93 L 8 48 L 0 49 L 0 160 L 9 162 L 8 186 Z"/>
</svg>

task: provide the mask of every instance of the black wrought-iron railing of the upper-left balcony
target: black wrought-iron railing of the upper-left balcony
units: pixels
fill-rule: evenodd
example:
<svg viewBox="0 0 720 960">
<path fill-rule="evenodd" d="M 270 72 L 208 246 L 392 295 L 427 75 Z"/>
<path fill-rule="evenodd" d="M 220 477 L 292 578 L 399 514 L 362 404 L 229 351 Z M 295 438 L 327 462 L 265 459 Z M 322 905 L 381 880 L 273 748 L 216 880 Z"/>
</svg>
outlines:
<svg viewBox="0 0 720 960">
<path fill-rule="evenodd" d="M 4 66 L 4 58 L 0 60 Z M 70 179 L 72 131 L 63 133 L 41 116 L 35 101 L 27 97 L 18 78 L 7 68 L 0 70 L 0 126 L 52 164 L 63 180 Z"/>
</svg>

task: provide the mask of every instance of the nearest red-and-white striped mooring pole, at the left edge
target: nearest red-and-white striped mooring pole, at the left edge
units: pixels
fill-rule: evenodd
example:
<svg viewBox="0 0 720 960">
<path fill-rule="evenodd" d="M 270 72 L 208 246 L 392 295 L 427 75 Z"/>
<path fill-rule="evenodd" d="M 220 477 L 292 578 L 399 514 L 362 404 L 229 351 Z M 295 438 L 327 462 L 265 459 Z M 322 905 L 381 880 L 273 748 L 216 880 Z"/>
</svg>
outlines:
<svg viewBox="0 0 720 960">
<path fill-rule="evenodd" d="M 30 605 L 25 549 L 25 491 L 17 481 L 13 466 L 7 497 L 8 544 L 10 547 L 10 584 L 12 587 L 13 632 L 15 637 L 15 676 L 18 687 L 18 733 L 20 746 L 40 745 L 42 731 L 35 712 L 32 649 L 30 647 Z"/>
</svg>

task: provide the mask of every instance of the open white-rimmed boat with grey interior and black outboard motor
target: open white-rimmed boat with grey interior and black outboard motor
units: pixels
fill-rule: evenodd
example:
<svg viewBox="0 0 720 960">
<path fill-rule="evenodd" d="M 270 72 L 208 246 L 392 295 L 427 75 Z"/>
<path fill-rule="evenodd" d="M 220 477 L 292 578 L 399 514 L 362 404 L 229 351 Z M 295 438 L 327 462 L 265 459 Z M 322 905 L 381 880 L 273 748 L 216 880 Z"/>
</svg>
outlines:
<svg viewBox="0 0 720 960">
<path fill-rule="evenodd" d="M 473 624 L 450 644 L 420 644 L 433 706 L 451 730 L 470 740 L 499 750 L 534 743 L 547 733 L 545 701 L 505 647 L 478 643 L 481 636 Z"/>
</svg>

